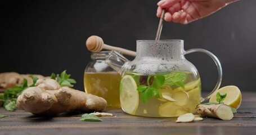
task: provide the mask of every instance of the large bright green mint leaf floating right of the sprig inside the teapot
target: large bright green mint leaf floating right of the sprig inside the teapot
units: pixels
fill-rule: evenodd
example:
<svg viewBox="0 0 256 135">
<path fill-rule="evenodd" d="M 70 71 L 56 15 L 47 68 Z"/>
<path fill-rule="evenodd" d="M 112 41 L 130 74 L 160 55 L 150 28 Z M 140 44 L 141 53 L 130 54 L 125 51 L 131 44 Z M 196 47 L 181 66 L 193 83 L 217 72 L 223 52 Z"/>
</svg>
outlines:
<svg viewBox="0 0 256 135">
<path fill-rule="evenodd" d="M 183 72 L 172 72 L 167 75 L 165 75 L 165 82 L 164 84 L 168 86 L 178 86 L 185 88 L 185 81 L 187 79 L 187 74 L 188 73 L 183 73 Z"/>
</svg>

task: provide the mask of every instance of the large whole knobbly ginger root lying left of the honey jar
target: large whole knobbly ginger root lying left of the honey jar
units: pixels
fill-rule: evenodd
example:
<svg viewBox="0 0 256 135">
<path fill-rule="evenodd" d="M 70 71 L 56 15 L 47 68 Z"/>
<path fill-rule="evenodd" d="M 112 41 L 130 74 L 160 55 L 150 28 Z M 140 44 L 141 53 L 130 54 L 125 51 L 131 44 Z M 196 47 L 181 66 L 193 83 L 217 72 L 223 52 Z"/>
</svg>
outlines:
<svg viewBox="0 0 256 135">
<path fill-rule="evenodd" d="M 35 87 L 29 87 L 21 93 L 16 105 L 34 115 L 56 115 L 69 110 L 102 111 L 107 102 L 102 97 L 60 87 L 56 80 L 38 79 Z"/>
</svg>

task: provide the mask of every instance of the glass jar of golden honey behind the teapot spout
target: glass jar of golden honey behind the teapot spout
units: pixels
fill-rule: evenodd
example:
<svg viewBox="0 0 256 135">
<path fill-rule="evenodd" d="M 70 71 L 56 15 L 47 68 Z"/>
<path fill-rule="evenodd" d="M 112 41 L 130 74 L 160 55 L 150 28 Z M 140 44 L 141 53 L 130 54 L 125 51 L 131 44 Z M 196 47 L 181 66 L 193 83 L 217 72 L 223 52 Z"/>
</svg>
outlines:
<svg viewBox="0 0 256 135">
<path fill-rule="evenodd" d="M 91 61 L 84 70 L 84 89 L 86 93 L 100 96 L 107 101 L 107 108 L 120 108 L 120 74 L 105 64 L 110 51 L 92 52 Z"/>
</svg>

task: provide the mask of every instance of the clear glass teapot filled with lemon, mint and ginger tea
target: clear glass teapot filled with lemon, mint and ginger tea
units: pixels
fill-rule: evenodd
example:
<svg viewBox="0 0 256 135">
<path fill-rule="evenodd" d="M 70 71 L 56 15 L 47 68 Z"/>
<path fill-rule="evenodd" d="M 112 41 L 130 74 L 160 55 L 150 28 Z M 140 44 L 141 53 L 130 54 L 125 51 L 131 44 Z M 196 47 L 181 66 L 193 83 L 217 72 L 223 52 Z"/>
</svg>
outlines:
<svg viewBox="0 0 256 135">
<path fill-rule="evenodd" d="M 212 92 L 201 97 L 201 81 L 195 66 L 185 59 L 192 52 L 212 57 L 218 68 L 218 81 Z M 222 68 L 213 53 L 203 49 L 183 49 L 183 40 L 137 40 L 133 61 L 112 51 L 106 64 L 122 76 L 120 103 L 128 114 L 150 117 L 176 117 L 195 113 L 196 106 L 219 88 Z"/>
</svg>

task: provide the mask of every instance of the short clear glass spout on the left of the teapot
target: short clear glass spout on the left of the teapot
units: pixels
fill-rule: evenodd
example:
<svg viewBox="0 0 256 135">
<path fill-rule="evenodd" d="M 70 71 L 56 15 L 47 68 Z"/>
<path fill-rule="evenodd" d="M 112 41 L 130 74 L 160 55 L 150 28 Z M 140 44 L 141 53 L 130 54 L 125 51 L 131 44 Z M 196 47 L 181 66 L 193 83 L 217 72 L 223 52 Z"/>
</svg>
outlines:
<svg viewBox="0 0 256 135">
<path fill-rule="evenodd" d="M 105 60 L 105 63 L 117 71 L 121 76 L 125 71 L 125 65 L 127 65 L 130 61 L 126 59 L 123 55 L 121 55 L 117 51 L 111 51 L 109 56 Z"/>
</svg>

